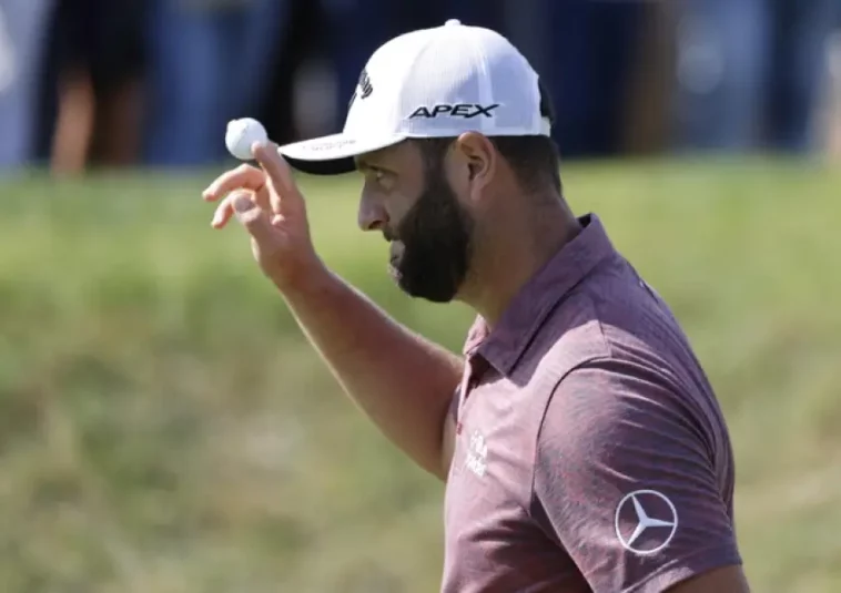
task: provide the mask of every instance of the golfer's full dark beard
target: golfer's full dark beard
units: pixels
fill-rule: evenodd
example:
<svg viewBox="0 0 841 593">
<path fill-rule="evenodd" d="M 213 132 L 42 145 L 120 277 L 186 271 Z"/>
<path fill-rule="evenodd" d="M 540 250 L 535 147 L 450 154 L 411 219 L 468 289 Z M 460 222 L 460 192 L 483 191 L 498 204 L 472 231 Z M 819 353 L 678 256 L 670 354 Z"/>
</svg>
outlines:
<svg viewBox="0 0 841 593">
<path fill-rule="evenodd" d="M 473 218 L 440 171 L 427 174 L 394 238 L 389 267 L 397 286 L 412 297 L 452 301 L 469 269 Z"/>
</svg>

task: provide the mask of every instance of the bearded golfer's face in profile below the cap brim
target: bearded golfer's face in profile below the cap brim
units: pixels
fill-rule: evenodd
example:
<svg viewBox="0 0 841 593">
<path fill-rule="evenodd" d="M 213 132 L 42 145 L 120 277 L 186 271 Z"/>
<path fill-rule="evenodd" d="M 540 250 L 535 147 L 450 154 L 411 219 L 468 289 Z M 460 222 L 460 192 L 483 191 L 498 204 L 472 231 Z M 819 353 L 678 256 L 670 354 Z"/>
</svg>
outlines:
<svg viewBox="0 0 841 593">
<path fill-rule="evenodd" d="M 453 300 L 469 269 L 474 223 L 447 182 L 444 160 L 428 163 L 416 146 L 402 145 L 361 170 L 366 173 L 361 223 L 391 243 L 397 285 L 413 297 Z M 366 207 L 372 214 L 364 219 Z"/>
</svg>

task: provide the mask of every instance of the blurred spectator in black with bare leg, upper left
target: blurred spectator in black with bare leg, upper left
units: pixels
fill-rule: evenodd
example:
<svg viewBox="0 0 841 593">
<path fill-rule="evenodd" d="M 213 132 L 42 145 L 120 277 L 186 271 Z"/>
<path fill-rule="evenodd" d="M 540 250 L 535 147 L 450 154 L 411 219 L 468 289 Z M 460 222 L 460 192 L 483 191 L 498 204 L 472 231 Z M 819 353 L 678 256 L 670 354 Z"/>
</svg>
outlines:
<svg viewBox="0 0 841 593">
<path fill-rule="evenodd" d="M 58 0 L 43 70 L 39 157 L 55 173 L 140 154 L 144 0 Z"/>
</svg>

